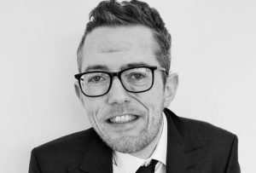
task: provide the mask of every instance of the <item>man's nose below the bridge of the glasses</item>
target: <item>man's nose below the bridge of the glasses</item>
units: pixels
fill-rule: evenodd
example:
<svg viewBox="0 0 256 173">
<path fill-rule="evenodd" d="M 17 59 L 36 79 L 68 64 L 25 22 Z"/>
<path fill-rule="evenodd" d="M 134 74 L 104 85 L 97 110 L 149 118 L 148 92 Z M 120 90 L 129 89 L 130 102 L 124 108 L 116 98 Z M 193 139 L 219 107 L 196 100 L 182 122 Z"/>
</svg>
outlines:
<svg viewBox="0 0 256 173">
<path fill-rule="evenodd" d="M 119 78 L 114 77 L 111 89 L 108 91 L 108 104 L 124 104 L 130 101 L 130 96 L 124 89 Z"/>
</svg>

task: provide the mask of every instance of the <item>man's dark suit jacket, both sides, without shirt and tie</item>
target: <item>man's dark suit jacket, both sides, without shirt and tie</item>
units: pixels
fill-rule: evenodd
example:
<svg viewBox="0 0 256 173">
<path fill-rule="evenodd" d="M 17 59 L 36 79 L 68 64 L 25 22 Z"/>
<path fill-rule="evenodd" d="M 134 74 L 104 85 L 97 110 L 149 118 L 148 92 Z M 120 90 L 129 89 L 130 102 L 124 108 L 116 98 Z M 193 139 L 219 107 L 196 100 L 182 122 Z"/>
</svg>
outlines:
<svg viewBox="0 0 256 173">
<path fill-rule="evenodd" d="M 168 127 L 166 172 L 237 173 L 237 137 L 212 124 L 179 118 L 165 109 Z M 30 173 L 110 173 L 113 151 L 93 129 L 50 141 L 32 150 Z"/>
</svg>

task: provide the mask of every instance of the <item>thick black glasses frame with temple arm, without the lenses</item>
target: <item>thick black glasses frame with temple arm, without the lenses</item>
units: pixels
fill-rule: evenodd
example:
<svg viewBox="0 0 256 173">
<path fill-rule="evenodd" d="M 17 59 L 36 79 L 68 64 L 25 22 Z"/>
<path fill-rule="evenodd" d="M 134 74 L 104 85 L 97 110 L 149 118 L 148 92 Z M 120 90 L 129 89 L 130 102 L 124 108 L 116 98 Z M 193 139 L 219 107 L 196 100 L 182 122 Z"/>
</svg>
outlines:
<svg viewBox="0 0 256 173">
<path fill-rule="evenodd" d="M 151 72 L 152 72 L 152 83 L 151 83 L 151 85 L 148 89 L 145 89 L 145 90 L 142 90 L 142 91 L 131 91 L 131 90 L 125 88 L 125 84 L 123 84 L 123 82 L 122 82 L 121 74 L 123 72 L 125 72 L 127 70 L 131 70 L 133 68 L 148 68 L 148 69 L 151 70 Z M 103 71 L 82 72 L 82 73 L 79 73 L 79 74 L 75 74 L 74 78 L 76 78 L 79 81 L 79 87 L 80 87 L 80 89 L 81 89 L 81 91 L 84 95 L 86 95 L 86 94 L 84 93 L 84 90 L 82 89 L 81 77 L 84 74 L 89 74 L 89 73 L 92 73 L 92 72 L 102 72 L 102 73 L 108 74 L 108 76 L 110 78 L 110 83 L 109 83 L 108 90 L 102 95 L 106 95 L 108 93 L 108 91 L 111 89 L 111 86 L 113 84 L 113 77 L 118 77 L 119 78 L 120 83 L 122 84 L 123 88 L 126 91 L 131 92 L 131 93 L 142 93 L 142 92 L 148 91 L 149 89 L 152 88 L 152 86 L 154 84 L 154 71 L 155 70 L 160 70 L 160 71 L 166 72 L 166 68 L 160 67 L 160 66 L 135 66 L 135 67 L 131 67 L 131 68 L 126 68 L 126 69 L 124 69 L 122 71 L 119 71 L 119 72 L 103 72 Z M 166 74 L 168 75 L 168 72 L 166 72 Z M 86 95 L 86 96 L 88 96 L 88 97 L 98 97 L 98 96 L 102 96 L 102 95 Z"/>
</svg>

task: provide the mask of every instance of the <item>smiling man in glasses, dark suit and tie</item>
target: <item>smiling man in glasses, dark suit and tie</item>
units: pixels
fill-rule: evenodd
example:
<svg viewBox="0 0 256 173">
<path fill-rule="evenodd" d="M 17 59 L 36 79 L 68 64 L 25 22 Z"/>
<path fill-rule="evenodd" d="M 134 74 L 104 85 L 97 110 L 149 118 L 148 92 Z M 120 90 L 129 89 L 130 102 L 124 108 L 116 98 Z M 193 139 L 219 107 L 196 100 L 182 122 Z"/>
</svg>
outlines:
<svg viewBox="0 0 256 173">
<path fill-rule="evenodd" d="M 34 148 L 29 172 L 240 172 L 235 135 L 166 108 L 178 80 L 170 49 L 147 3 L 99 3 L 75 75 L 92 128 Z"/>
</svg>

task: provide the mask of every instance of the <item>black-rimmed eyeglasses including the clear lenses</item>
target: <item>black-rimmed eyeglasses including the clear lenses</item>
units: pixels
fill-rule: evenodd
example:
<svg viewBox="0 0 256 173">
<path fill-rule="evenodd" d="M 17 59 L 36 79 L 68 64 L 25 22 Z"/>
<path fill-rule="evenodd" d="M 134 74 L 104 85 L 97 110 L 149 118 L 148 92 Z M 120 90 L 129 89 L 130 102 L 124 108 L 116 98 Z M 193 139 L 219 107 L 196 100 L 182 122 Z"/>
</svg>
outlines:
<svg viewBox="0 0 256 173">
<path fill-rule="evenodd" d="M 137 66 L 120 72 L 83 72 L 74 75 L 74 77 L 78 79 L 84 95 L 97 97 L 108 93 L 115 76 L 119 78 L 126 91 L 131 93 L 148 91 L 154 84 L 154 70 L 166 72 L 165 68 L 159 66 Z"/>
</svg>

